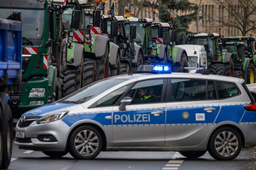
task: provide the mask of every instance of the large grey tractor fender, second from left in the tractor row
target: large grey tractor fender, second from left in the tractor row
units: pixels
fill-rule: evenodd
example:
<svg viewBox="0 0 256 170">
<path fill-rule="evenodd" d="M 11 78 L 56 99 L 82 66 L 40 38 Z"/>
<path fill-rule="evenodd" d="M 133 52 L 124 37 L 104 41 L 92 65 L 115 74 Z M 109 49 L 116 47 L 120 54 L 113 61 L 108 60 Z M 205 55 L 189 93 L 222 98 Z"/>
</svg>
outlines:
<svg viewBox="0 0 256 170">
<path fill-rule="evenodd" d="M 106 52 L 106 48 L 109 49 L 109 39 L 106 36 L 97 34 L 96 39 L 94 39 L 94 53 L 96 57 L 103 57 Z"/>
</svg>

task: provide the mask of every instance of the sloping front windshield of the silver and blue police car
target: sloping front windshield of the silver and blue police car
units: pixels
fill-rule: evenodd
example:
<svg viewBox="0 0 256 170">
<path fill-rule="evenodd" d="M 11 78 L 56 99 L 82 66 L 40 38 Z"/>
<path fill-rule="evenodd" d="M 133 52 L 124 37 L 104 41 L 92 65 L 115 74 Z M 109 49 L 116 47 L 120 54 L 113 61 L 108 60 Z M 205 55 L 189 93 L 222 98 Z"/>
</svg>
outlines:
<svg viewBox="0 0 256 170">
<path fill-rule="evenodd" d="M 127 79 L 103 79 L 101 81 L 98 81 L 96 83 L 93 83 L 87 87 L 82 88 L 81 90 L 76 91 L 75 93 L 72 93 L 71 95 L 60 99 L 58 102 L 77 102 L 77 103 L 83 103 L 86 102 L 104 91 L 110 89 L 111 87 L 114 87 L 115 85 L 122 83 L 126 81 Z"/>
</svg>

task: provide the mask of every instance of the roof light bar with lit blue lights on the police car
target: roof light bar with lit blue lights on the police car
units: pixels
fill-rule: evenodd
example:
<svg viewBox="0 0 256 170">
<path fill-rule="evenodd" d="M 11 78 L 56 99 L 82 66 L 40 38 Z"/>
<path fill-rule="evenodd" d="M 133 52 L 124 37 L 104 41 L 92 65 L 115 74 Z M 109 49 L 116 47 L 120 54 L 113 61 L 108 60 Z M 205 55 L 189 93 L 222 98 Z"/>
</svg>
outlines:
<svg viewBox="0 0 256 170">
<path fill-rule="evenodd" d="M 171 73 L 171 68 L 167 65 L 140 65 L 137 69 L 139 73 Z"/>
</svg>

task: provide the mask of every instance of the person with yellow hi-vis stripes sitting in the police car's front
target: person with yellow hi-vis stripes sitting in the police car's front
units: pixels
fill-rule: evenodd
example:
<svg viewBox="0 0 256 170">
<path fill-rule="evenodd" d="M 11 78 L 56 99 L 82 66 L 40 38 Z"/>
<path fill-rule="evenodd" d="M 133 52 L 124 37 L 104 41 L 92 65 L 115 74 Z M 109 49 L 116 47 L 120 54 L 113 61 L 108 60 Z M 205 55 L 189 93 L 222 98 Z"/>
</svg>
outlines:
<svg viewBox="0 0 256 170">
<path fill-rule="evenodd" d="M 150 94 L 149 87 L 141 87 L 138 89 L 139 99 L 134 99 L 134 103 L 152 103 L 156 99 Z"/>
</svg>

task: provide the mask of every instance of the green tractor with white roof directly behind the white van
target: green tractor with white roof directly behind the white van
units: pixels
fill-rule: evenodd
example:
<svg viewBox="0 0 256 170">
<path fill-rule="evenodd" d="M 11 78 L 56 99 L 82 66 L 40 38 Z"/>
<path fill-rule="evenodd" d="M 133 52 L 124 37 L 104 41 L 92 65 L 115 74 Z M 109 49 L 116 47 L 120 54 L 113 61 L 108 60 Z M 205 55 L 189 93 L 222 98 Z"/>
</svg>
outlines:
<svg viewBox="0 0 256 170">
<path fill-rule="evenodd" d="M 219 47 L 220 37 L 217 33 L 188 34 L 187 42 L 192 45 L 204 46 L 207 53 L 207 69 L 210 74 L 234 77 L 233 56 L 229 52 L 222 52 Z"/>
</svg>

